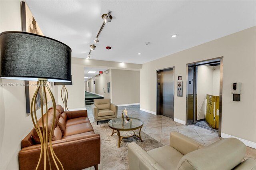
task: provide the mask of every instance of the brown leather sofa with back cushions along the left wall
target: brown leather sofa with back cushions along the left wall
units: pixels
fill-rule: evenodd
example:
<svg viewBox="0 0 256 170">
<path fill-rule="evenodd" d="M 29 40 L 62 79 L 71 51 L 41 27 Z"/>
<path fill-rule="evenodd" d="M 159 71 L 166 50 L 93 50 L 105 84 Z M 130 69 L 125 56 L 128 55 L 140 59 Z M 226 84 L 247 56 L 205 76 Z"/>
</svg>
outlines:
<svg viewBox="0 0 256 170">
<path fill-rule="evenodd" d="M 44 120 L 45 119 L 44 115 Z M 53 122 L 53 109 L 48 111 L 48 129 Z M 100 164 L 100 134 L 95 134 L 87 117 L 87 110 L 66 111 L 56 105 L 56 121 L 52 134 L 52 146 L 65 170 L 81 170 Z M 46 122 L 46 121 L 44 121 Z M 42 127 L 41 119 L 38 121 Z M 48 130 L 50 136 L 50 129 Z M 40 140 L 33 128 L 21 141 L 22 149 L 19 152 L 20 170 L 36 169 L 40 156 Z M 49 145 L 48 145 L 49 146 Z M 49 150 L 50 153 L 50 150 Z M 51 157 L 51 156 L 50 156 Z M 38 169 L 44 169 L 44 158 Z M 48 163 L 48 160 L 46 160 Z M 52 169 L 56 169 L 51 160 Z M 47 165 L 47 169 L 49 166 Z"/>
</svg>

